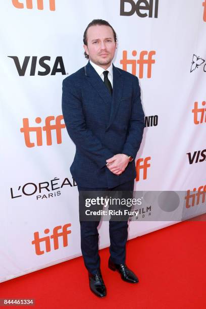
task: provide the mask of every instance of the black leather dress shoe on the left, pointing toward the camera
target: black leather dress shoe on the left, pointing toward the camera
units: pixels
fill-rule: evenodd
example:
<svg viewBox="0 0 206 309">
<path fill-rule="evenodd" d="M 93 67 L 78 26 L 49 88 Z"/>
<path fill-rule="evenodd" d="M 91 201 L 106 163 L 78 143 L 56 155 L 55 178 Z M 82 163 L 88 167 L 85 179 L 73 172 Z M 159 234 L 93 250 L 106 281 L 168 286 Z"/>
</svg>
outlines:
<svg viewBox="0 0 206 309">
<path fill-rule="evenodd" d="M 100 269 L 97 270 L 95 275 L 89 273 L 89 287 L 90 290 L 98 297 L 104 297 L 107 295 L 107 289 L 101 277 Z"/>
</svg>

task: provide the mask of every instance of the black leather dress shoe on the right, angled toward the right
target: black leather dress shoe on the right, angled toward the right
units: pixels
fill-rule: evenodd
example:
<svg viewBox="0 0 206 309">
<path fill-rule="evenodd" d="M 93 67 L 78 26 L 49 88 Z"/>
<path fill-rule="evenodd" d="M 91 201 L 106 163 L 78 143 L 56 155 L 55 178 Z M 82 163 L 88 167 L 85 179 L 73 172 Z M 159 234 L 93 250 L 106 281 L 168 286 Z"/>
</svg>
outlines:
<svg viewBox="0 0 206 309">
<path fill-rule="evenodd" d="M 122 280 L 130 283 L 139 282 L 137 276 L 126 266 L 126 264 L 115 264 L 110 258 L 108 266 L 113 271 L 117 270 L 120 273 Z"/>
</svg>

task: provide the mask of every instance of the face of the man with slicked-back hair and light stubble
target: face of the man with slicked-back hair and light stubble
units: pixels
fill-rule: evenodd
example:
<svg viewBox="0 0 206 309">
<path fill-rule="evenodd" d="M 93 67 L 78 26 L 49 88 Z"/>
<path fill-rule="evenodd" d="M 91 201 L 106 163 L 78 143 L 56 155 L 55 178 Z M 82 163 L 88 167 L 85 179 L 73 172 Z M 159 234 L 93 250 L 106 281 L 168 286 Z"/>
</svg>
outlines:
<svg viewBox="0 0 206 309">
<path fill-rule="evenodd" d="M 83 45 L 89 59 L 102 68 L 108 68 L 115 55 L 117 43 L 110 26 L 95 25 L 87 30 L 87 45 Z"/>
</svg>

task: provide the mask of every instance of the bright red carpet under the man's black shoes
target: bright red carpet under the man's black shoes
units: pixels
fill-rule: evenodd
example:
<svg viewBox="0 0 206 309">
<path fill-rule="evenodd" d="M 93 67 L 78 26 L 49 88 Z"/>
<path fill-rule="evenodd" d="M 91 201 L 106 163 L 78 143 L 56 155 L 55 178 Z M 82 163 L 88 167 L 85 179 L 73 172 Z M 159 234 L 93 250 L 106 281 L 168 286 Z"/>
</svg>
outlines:
<svg viewBox="0 0 206 309">
<path fill-rule="evenodd" d="M 105 298 L 90 292 L 82 257 L 3 282 L 0 298 L 34 298 L 34 308 L 44 309 L 206 308 L 206 222 L 185 221 L 128 241 L 126 263 L 137 284 L 108 269 L 108 248 L 100 257 Z"/>
</svg>

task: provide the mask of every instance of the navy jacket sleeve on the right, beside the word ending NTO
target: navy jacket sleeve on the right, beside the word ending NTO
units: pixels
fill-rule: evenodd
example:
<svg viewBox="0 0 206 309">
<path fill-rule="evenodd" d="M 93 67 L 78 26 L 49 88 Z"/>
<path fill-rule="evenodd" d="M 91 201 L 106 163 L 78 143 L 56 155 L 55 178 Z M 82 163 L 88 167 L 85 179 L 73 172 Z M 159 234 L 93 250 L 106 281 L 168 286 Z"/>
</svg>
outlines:
<svg viewBox="0 0 206 309">
<path fill-rule="evenodd" d="M 138 78 L 135 76 L 135 87 L 132 102 L 132 113 L 129 123 L 128 135 L 122 150 L 128 156 L 132 156 L 135 160 L 137 151 L 139 150 L 142 135 L 144 131 L 144 112 L 141 104 L 141 91 L 139 87 Z"/>
</svg>

